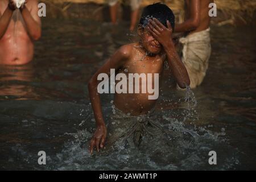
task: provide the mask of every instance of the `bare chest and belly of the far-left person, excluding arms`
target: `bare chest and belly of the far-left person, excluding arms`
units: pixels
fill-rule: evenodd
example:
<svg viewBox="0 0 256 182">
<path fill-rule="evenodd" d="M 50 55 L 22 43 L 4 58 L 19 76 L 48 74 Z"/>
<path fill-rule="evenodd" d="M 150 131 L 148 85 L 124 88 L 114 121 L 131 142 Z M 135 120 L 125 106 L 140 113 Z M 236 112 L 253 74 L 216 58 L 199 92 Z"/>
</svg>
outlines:
<svg viewBox="0 0 256 182">
<path fill-rule="evenodd" d="M 9 1 L 0 1 L 0 16 L 6 10 Z M 30 1 L 26 4 L 31 10 Z M 5 35 L 0 39 L 0 64 L 26 64 L 34 54 L 34 44 L 27 34 L 26 26 L 20 10 L 16 9 Z"/>
</svg>

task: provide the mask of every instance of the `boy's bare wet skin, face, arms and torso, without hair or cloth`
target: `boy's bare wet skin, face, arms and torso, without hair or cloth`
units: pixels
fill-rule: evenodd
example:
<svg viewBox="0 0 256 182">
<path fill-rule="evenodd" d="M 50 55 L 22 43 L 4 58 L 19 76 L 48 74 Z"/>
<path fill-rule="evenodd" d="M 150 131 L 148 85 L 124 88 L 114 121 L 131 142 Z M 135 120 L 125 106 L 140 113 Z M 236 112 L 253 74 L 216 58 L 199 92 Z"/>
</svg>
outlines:
<svg viewBox="0 0 256 182">
<path fill-rule="evenodd" d="M 156 19 L 150 20 L 146 28 L 139 27 L 138 35 L 141 36 L 139 43 L 122 46 L 112 57 L 93 75 L 88 88 L 90 101 L 96 119 L 96 131 L 90 141 L 90 153 L 94 147 L 97 151 L 104 147 L 106 139 L 106 126 L 102 116 L 100 94 L 97 92 L 100 73 L 110 76 L 110 69 L 120 73 L 159 73 L 163 72 L 164 60 L 167 59 L 177 83 L 181 88 L 190 84 L 187 70 L 179 59 L 172 42 L 172 28 L 167 22 L 168 28 L 164 27 Z M 146 55 L 146 56 L 145 56 Z M 141 84 L 141 83 L 140 83 Z M 153 83 L 154 84 L 154 83 Z M 117 94 L 114 96 L 115 106 L 131 115 L 144 114 L 154 107 L 156 100 L 148 100 L 146 94 Z"/>
</svg>

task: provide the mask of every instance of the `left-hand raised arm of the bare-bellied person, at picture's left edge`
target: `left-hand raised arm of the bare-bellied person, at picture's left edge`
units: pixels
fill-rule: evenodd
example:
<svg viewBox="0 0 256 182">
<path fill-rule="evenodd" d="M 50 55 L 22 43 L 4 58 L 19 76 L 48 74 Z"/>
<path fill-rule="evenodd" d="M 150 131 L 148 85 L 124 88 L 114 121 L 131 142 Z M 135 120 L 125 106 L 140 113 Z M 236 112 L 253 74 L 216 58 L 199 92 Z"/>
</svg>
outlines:
<svg viewBox="0 0 256 182">
<path fill-rule="evenodd" d="M 11 21 L 11 16 L 13 15 L 13 11 L 16 9 L 16 6 L 13 1 L 10 1 L 8 6 L 6 7 L 6 10 L 1 15 L 0 12 L 0 39 L 2 39 L 3 35 L 5 35 L 5 32 L 9 26 L 9 23 Z"/>
</svg>

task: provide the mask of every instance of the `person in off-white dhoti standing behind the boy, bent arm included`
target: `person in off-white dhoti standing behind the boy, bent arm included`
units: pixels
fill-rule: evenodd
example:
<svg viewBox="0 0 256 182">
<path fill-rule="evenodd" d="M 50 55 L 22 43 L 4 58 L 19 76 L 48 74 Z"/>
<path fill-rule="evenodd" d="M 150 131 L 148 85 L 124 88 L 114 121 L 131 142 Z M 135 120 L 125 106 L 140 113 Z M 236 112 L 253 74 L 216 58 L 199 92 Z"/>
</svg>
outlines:
<svg viewBox="0 0 256 182">
<path fill-rule="evenodd" d="M 196 88 L 203 81 L 208 69 L 211 53 L 209 3 L 212 0 L 186 0 L 185 22 L 175 25 L 175 32 L 184 32 L 182 61 L 191 80 L 190 87 Z"/>
</svg>

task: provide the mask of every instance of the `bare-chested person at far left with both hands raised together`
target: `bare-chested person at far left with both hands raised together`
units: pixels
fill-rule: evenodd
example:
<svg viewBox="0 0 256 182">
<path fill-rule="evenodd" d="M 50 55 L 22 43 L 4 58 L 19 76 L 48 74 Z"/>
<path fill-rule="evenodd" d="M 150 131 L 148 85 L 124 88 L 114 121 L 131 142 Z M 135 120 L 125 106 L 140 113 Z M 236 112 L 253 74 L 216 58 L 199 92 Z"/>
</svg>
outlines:
<svg viewBox="0 0 256 182">
<path fill-rule="evenodd" d="M 0 64 L 29 63 L 40 36 L 37 0 L 0 1 Z"/>
</svg>

